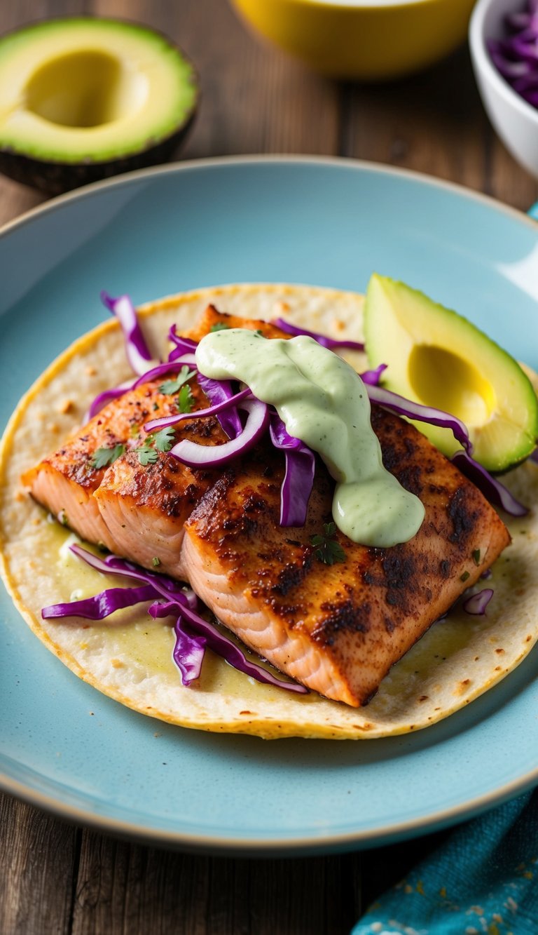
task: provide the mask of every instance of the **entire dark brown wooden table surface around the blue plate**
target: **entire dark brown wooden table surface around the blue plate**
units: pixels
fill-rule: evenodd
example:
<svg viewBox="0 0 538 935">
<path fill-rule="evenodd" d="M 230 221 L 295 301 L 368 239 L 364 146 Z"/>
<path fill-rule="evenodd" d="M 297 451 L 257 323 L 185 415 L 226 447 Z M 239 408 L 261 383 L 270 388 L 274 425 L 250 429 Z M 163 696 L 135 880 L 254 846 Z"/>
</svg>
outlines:
<svg viewBox="0 0 538 935">
<path fill-rule="evenodd" d="M 202 107 L 181 157 L 295 152 L 404 166 L 518 209 L 538 187 L 499 142 L 461 49 L 398 83 L 310 74 L 248 34 L 225 0 L 18 0 L 0 33 L 50 16 L 146 22 L 197 65 Z M 42 199 L 0 180 L 0 223 Z M 0 797 L 2 935 L 339 935 L 441 835 L 366 854 L 247 860 L 116 841 Z"/>
</svg>

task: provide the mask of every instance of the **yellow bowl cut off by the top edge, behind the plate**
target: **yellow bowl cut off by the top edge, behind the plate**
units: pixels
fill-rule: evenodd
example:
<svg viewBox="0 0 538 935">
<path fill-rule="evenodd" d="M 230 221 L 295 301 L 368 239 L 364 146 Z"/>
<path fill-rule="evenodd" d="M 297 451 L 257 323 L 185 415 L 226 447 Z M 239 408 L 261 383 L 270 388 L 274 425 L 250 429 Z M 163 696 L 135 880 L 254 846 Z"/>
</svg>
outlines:
<svg viewBox="0 0 538 935">
<path fill-rule="evenodd" d="M 231 0 L 262 36 L 333 78 L 390 79 L 466 36 L 474 0 Z"/>
</svg>

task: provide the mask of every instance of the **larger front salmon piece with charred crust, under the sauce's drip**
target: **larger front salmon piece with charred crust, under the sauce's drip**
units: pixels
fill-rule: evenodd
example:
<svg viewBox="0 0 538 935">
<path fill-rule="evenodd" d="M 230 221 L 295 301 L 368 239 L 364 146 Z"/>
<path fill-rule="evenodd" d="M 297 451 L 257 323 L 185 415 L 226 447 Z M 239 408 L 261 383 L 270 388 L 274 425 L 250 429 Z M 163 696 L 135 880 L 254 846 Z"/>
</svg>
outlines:
<svg viewBox="0 0 538 935">
<path fill-rule="evenodd" d="M 222 623 L 277 669 L 353 706 L 510 541 L 485 497 L 413 425 L 376 407 L 372 424 L 385 467 L 425 506 L 411 541 L 374 549 L 337 531 L 346 561 L 322 564 L 311 538 L 332 520 L 328 473 L 316 471 L 304 527 L 282 528 L 282 470 L 258 449 L 202 498 L 183 542 L 191 587 Z"/>
</svg>

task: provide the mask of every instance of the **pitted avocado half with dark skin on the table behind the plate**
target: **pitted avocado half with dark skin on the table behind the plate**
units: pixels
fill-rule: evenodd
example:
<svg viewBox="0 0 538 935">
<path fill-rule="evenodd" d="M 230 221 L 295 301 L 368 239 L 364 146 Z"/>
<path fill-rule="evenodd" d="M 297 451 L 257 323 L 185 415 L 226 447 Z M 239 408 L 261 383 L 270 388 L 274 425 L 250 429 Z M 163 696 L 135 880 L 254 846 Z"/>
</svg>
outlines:
<svg viewBox="0 0 538 935">
<path fill-rule="evenodd" d="M 50 20 L 0 38 L 0 171 L 49 194 L 169 158 L 198 102 L 193 66 L 146 26 Z"/>
</svg>

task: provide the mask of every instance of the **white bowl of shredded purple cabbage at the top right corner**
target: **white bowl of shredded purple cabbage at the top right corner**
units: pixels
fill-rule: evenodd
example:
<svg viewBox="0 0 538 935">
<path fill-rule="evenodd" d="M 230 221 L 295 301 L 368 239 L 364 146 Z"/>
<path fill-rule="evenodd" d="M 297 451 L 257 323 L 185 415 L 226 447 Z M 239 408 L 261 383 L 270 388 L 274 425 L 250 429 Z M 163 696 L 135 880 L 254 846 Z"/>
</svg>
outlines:
<svg viewBox="0 0 538 935">
<path fill-rule="evenodd" d="M 538 109 L 524 101 L 493 65 L 486 43 L 504 35 L 506 13 L 521 10 L 524 0 L 478 0 L 469 26 L 474 76 L 489 120 L 508 151 L 538 178 Z"/>
</svg>

